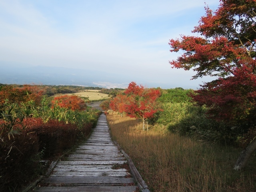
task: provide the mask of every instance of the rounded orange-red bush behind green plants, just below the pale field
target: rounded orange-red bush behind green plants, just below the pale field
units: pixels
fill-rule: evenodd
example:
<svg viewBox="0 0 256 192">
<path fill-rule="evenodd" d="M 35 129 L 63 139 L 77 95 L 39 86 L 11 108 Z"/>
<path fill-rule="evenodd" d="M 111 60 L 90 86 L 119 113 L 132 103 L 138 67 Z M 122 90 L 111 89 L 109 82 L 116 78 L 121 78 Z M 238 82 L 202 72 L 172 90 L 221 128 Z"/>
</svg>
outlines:
<svg viewBox="0 0 256 192">
<path fill-rule="evenodd" d="M 86 107 L 84 100 L 82 100 L 80 97 L 68 95 L 55 97 L 54 100 L 52 100 L 52 104 L 71 110 L 84 110 Z"/>
</svg>

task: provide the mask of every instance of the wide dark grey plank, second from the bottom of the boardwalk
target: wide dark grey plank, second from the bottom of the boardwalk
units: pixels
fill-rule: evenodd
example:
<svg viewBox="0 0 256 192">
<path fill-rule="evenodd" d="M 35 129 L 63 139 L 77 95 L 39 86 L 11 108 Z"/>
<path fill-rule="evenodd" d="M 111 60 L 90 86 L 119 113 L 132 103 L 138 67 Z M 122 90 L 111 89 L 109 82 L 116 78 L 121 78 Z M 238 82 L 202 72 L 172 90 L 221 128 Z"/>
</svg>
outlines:
<svg viewBox="0 0 256 192">
<path fill-rule="evenodd" d="M 110 176 L 66 176 L 66 177 L 49 177 L 44 180 L 45 183 L 53 184 L 132 184 L 132 178 L 119 178 Z"/>
</svg>

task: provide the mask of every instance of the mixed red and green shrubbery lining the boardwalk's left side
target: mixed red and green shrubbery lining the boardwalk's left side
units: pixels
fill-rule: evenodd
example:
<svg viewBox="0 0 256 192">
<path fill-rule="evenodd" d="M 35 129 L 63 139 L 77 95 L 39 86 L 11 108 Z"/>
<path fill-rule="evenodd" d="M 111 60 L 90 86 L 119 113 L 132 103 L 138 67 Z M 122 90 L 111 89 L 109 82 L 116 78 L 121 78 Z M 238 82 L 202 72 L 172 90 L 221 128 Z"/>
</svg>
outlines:
<svg viewBox="0 0 256 192">
<path fill-rule="evenodd" d="M 1 192 L 17 191 L 40 172 L 40 158 L 56 156 L 88 136 L 100 114 L 90 107 L 81 112 L 62 109 L 55 111 L 62 116 L 51 119 L 52 109 L 42 107 L 36 111 L 33 108 L 33 114 L 45 115 L 47 122 L 44 123 L 43 118 L 21 121 L 17 114 L 22 113 L 22 108 L 17 104 L 4 107 L 10 112 L 2 112 L 0 116 Z"/>
</svg>

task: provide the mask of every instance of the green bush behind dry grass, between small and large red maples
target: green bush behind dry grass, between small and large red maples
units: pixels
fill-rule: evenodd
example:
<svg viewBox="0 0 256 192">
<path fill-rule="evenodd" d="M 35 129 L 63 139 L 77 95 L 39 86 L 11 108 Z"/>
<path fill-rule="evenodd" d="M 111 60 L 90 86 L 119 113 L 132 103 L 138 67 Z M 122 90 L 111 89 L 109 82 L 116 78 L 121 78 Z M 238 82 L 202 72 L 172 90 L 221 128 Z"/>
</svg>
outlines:
<svg viewBox="0 0 256 192">
<path fill-rule="evenodd" d="M 179 135 L 225 144 L 235 144 L 238 136 L 242 136 L 240 128 L 207 118 L 205 106 L 196 106 L 192 102 L 167 102 L 162 106 L 157 122 Z"/>
</svg>

